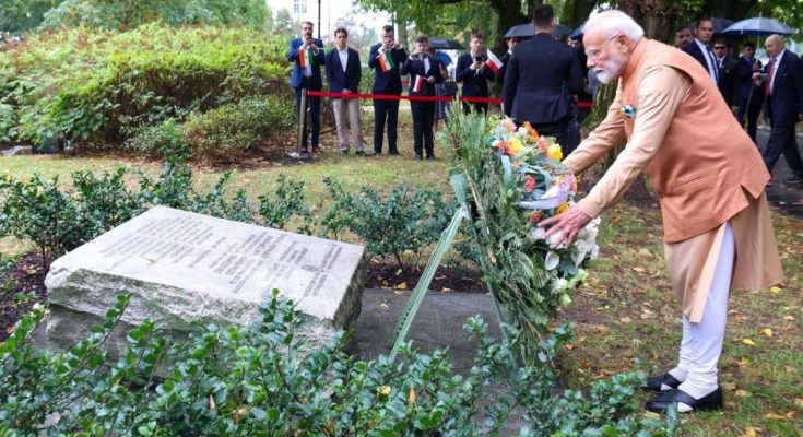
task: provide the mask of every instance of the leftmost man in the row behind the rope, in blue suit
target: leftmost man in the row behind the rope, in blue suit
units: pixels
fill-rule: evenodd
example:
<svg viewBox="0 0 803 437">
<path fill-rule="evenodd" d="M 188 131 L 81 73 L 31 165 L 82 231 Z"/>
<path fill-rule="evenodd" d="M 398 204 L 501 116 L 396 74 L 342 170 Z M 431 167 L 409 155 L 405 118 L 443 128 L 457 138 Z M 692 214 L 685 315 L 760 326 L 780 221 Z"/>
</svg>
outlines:
<svg viewBox="0 0 803 437">
<path fill-rule="evenodd" d="M 323 42 L 312 38 L 314 25 L 311 22 L 302 22 L 302 35 L 290 42 L 287 60 L 293 62 L 293 72 L 290 75 L 290 86 L 296 92 L 296 113 L 300 114 L 302 90 L 320 91 L 323 88 L 320 68 L 326 62 L 323 57 Z M 320 152 L 318 139 L 320 137 L 320 97 L 307 97 L 309 111 L 305 117 L 304 133 L 302 134 L 302 153 L 308 153 L 307 126 L 312 128 L 312 152 Z"/>
</svg>

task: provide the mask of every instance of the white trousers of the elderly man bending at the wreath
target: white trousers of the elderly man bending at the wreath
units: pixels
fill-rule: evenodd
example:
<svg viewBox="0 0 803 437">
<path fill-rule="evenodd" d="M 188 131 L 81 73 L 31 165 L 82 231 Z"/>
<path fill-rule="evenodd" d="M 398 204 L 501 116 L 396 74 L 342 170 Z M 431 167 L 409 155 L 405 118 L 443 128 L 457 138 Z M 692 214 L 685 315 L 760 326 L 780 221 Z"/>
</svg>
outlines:
<svg viewBox="0 0 803 437">
<path fill-rule="evenodd" d="M 722 343 L 725 338 L 728 296 L 731 290 L 735 252 L 736 240 L 733 236 L 733 226 L 728 222 L 702 319 L 699 323 L 692 323 L 688 318 L 683 317 L 683 340 L 677 368 L 685 371 L 687 376 L 681 390 L 696 399 L 710 393 L 718 386 L 717 364 L 722 354 Z"/>
</svg>

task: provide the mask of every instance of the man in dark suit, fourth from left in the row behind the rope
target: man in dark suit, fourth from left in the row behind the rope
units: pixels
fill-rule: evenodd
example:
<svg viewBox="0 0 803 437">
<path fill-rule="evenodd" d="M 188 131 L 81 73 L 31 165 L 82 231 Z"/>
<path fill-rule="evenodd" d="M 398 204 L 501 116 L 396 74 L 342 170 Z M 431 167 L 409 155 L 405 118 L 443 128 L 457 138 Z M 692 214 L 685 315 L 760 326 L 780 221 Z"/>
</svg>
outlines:
<svg viewBox="0 0 803 437">
<path fill-rule="evenodd" d="M 438 61 L 428 54 L 429 38 L 420 35 L 415 38 L 415 49 L 401 68 L 402 74 L 410 74 L 411 96 L 434 96 L 435 84 L 444 82 Z M 435 102 L 410 101 L 410 108 L 413 113 L 415 158 L 422 160 L 426 150 L 426 158 L 435 160 L 435 142 L 433 141 Z"/>
</svg>

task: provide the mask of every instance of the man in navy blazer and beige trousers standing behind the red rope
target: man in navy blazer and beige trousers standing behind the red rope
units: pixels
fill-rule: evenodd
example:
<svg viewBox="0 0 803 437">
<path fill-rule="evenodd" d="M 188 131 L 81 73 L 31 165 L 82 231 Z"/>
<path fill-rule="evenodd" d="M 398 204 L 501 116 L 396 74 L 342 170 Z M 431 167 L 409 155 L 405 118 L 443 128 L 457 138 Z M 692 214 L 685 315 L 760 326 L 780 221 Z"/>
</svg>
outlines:
<svg viewBox="0 0 803 437">
<path fill-rule="evenodd" d="M 349 31 L 345 27 L 334 29 L 334 50 L 327 55 L 327 81 L 329 81 L 329 91 L 333 93 L 357 94 L 363 71 L 359 67 L 359 54 L 346 46 L 347 40 Z M 349 118 L 354 153 L 364 155 L 363 135 L 359 131 L 359 99 L 332 98 L 332 108 L 334 109 L 334 125 L 338 127 L 340 153 L 349 154 L 349 128 L 345 122 Z"/>
</svg>

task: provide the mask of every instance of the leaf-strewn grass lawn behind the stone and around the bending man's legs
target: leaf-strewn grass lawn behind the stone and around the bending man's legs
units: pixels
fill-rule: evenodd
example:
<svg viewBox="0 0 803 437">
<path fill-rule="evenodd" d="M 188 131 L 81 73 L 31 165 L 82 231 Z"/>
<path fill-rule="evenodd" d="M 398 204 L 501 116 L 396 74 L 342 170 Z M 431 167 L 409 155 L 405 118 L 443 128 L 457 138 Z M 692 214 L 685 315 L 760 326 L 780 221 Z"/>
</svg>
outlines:
<svg viewBox="0 0 803 437">
<path fill-rule="evenodd" d="M 400 139 L 410 137 L 409 128 L 401 130 Z M 277 175 L 286 174 L 307 181 L 310 206 L 323 192 L 326 175 L 343 181 L 347 189 L 364 185 L 390 189 L 399 184 L 450 189 L 445 161 L 413 161 L 410 141 L 400 144 L 402 157 L 341 156 L 331 135 L 322 144 L 328 153 L 314 163 L 263 163 L 234 169 L 232 188 L 244 187 L 256 200 L 271 189 Z M 130 160 L 28 155 L 0 157 L 0 174 L 26 178 L 40 173 L 69 181 L 72 172 L 103 172 L 120 164 L 158 170 L 157 163 Z M 221 173 L 198 169 L 199 189 L 210 186 Z M 683 435 L 799 436 L 803 429 L 803 221 L 778 213 L 772 218 L 787 280 L 781 287 L 732 295 L 720 362 L 725 410 L 685 416 L 688 423 Z M 603 215 L 599 243 L 601 258 L 590 267 L 589 281 L 558 317 L 558 321 L 576 323 L 575 342 L 560 359 L 570 387 L 633 369 L 639 358 L 661 371 L 676 362 L 681 318 L 663 265 L 658 209 L 615 208 Z M 2 257 L 23 250 L 19 241 L 0 240 Z M 646 399 L 643 394 L 640 400 Z"/>
</svg>

